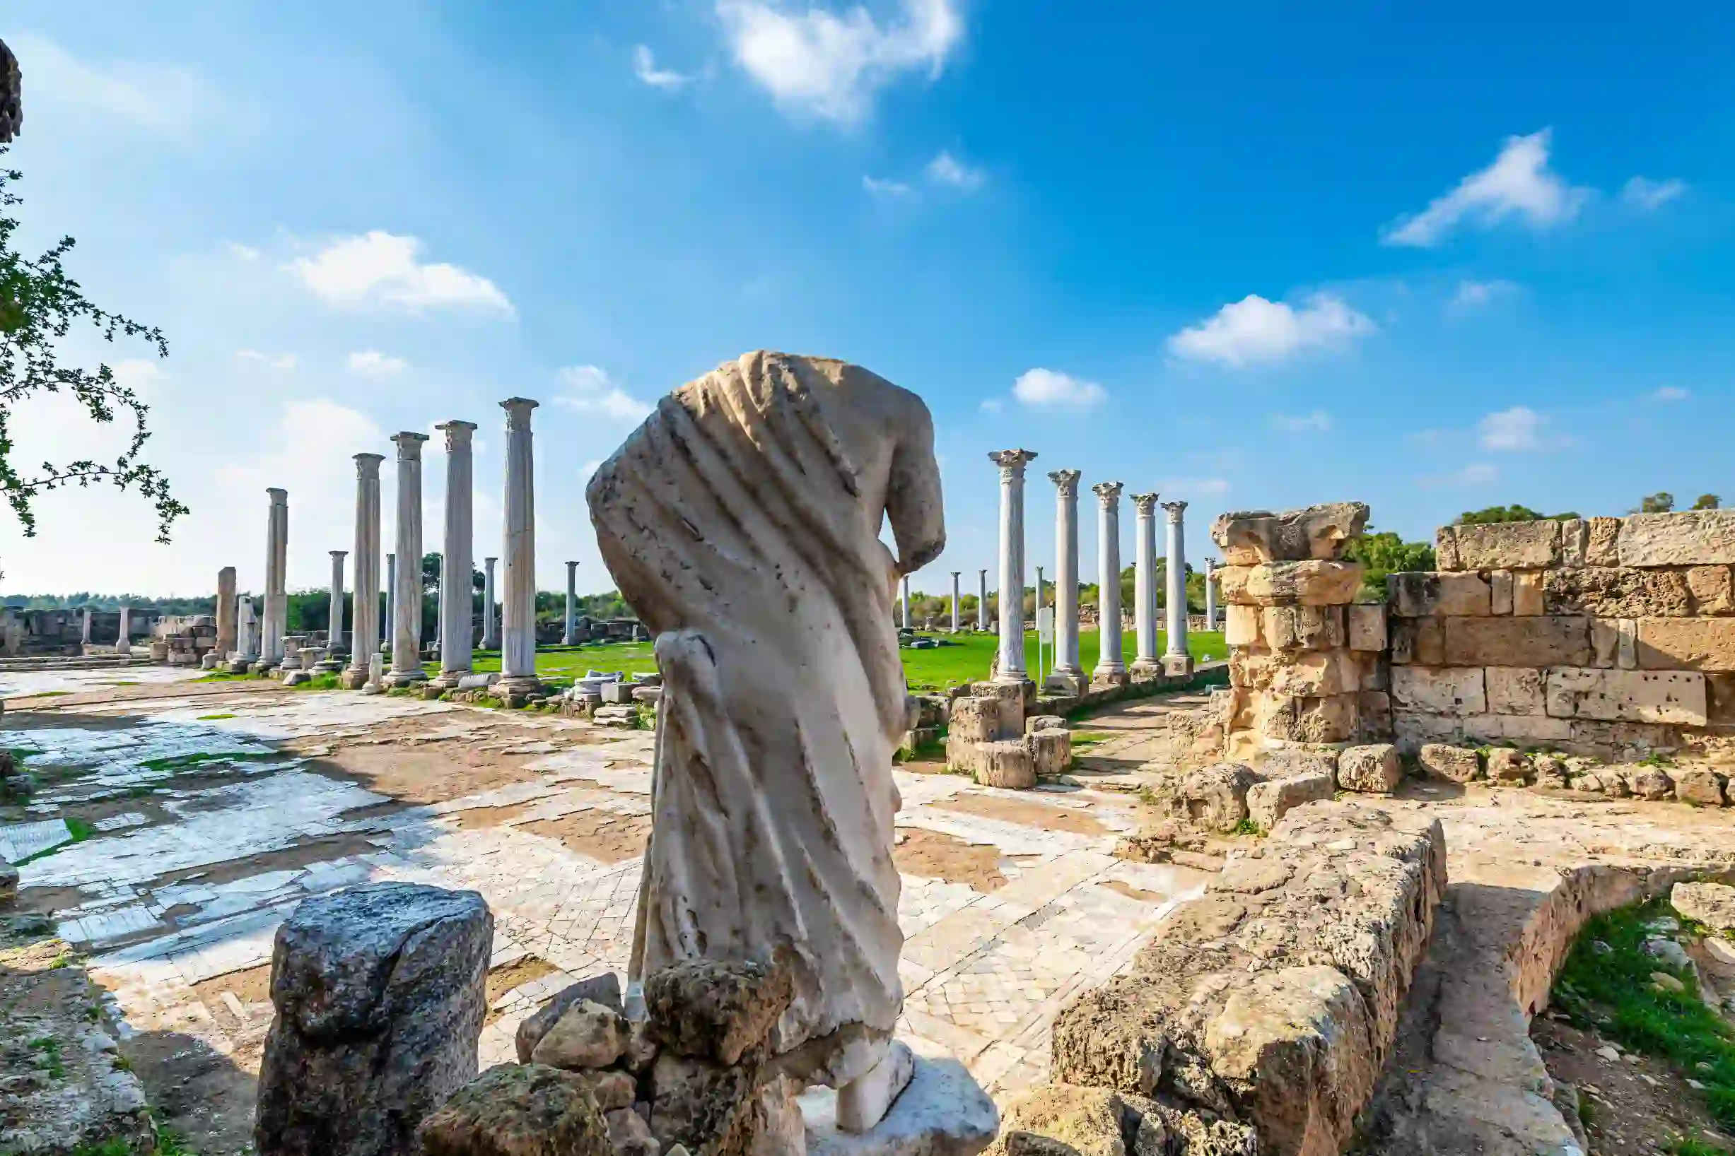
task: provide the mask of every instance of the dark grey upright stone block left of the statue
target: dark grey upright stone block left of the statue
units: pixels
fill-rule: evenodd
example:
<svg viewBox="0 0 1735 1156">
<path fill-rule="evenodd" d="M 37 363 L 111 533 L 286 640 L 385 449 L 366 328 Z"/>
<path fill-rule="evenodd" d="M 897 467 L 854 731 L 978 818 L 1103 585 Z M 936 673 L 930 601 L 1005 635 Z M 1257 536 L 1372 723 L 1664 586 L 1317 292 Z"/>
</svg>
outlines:
<svg viewBox="0 0 1735 1156">
<path fill-rule="evenodd" d="M 364 884 L 278 927 L 262 1156 L 396 1156 L 475 1076 L 494 919 L 474 891 Z"/>
</svg>

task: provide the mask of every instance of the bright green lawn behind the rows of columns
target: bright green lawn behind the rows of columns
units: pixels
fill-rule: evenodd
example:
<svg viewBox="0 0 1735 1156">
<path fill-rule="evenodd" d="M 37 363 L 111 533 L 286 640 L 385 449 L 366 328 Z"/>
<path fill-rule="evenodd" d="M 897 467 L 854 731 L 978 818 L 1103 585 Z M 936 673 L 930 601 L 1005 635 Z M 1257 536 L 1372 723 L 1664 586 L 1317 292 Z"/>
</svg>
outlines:
<svg viewBox="0 0 1735 1156">
<path fill-rule="evenodd" d="M 947 645 L 933 650 L 904 650 L 904 672 L 913 688 L 940 690 L 958 683 L 970 683 L 987 678 L 989 664 L 999 640 L 994 634 L 920 634 L 921 638 L 939 638 Z M 1133 662 L 1138 653 L 1133 633 L 1121 636 L 1126 662 Z M 1157 653 L 1162 653 L 1162 636 L 1157 638 Z M 1223 659 L 1228 648 L 1223 636 L 1188 634 L 1187 650 L 1195 660 Z M 1097 666 L 1097 631 L 1079 634 L 1079 662 L 1090 672 Z M 1031 676 L 1036 676 L 1036 634 L 1024 636 L 1024 660 Z M 1053 655 L 1044 657 L 1044 669 L 1053 666 Z M 474 669 L 481 672 L 500 669 L 498 650 L 475 652 Z M 437 672 L 439 664 L 430 662 L 429 672 Z M 656 671 L 656 657 L 651 643 L 607 643 L 602 646 L 543 646 L 536 652 L 536 672 L 552 683 L 567 683 L 586 671 L 621 671 L 626 674 L 649 674 Z"/>
</svg>

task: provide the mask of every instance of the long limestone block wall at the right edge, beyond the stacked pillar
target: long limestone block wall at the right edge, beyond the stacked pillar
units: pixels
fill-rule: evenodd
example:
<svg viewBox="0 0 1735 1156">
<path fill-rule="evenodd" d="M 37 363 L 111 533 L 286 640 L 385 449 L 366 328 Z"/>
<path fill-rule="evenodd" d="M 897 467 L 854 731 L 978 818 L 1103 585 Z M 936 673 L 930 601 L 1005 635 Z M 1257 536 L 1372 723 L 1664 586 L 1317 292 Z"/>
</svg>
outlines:
<svg viewBox="0 0 1735 1156">
<path fill-rule="evenodd" d="M 1629 759 L 1735 735 L 1735 511 L 1444 527 L 1438 565 L 1388 582 L 1402 749 Z"/>
</svg>

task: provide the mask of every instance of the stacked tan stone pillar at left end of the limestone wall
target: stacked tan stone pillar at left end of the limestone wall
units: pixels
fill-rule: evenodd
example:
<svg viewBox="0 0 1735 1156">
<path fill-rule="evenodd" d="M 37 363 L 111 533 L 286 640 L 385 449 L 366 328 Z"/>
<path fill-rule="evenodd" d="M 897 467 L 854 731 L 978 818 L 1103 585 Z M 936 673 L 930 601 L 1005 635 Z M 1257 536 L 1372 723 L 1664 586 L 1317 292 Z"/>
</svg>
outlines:
<svg viewBox="0 0 1735 1156">
<path fill-rule="evenodd" d="M 1218 582 L 1230 646 L 1230 759 L 1345 745 L 1390 728 L 1385 608 L 1355 605 L 1362 567 L 1343 553 L 1367 506 L 1223 515 Z"/>
</svg>

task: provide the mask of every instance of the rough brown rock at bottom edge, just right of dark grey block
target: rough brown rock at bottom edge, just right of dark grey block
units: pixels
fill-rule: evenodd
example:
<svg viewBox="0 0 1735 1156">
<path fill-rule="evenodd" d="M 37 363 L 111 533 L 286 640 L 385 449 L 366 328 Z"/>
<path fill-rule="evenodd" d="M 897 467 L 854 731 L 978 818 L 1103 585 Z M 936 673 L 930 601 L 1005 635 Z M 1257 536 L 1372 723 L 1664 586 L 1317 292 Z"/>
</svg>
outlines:
<svg viewBox="0 0 1735 1156">
<path fill-rule="evenodd" d="M 494 1064 L 458 1088 L 422 1123 L 418 1151 L 427 1156 L 614 1156 L 585 1078 L 541 1064 Z"/>
</svg>

